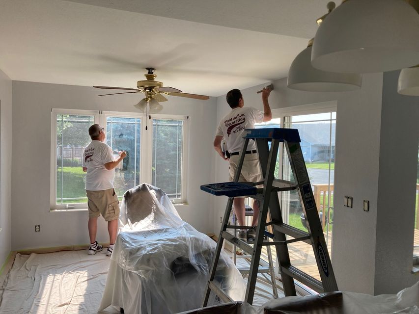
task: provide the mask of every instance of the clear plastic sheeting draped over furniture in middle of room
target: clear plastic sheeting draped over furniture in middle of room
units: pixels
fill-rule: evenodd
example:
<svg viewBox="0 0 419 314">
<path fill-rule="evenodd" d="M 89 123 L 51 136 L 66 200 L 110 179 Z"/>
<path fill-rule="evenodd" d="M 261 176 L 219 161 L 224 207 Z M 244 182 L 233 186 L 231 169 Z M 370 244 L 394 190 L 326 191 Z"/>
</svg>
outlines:
<svg viewBox="0 0 419 314">
<path fill-rule="evenodd" d="M 202 306 L 216 243 L 183 221 L 166 193 L 141 184 L 125 192 L 119 234 L 100 310 L 178 313 Z M 222 254 L 216 279 L 233 300 L 243 300 L 245 282 Z M 213 304 L 220 302 L 212 295 Z"/>
</svg>

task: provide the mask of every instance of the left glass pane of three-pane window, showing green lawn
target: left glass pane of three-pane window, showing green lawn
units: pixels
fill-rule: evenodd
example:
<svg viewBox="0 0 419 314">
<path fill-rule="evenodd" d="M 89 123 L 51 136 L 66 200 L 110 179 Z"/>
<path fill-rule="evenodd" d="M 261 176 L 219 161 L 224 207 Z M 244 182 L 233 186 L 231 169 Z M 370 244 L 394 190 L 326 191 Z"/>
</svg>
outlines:
<svg viewBox="0 0 419 314">
<path fill-rule="evenodd" d="M 82 155 L 92 124 L 94 116 L 57 114 L 56 204 L 87 203 Z"/>
</svg>

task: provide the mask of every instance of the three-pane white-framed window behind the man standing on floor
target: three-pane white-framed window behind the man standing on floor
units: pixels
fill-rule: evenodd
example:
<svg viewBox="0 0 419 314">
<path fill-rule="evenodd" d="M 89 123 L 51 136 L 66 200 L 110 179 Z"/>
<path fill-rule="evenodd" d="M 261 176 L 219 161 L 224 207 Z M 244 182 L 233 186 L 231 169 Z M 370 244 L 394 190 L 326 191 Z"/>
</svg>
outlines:
<svg viewBox="0 0 419 314">
<path fill-rule="evenodd" d="M 82 154 L 90 143 L 88 128 L 105 128 L 106 143 L 114 157 L 127 157 L 115 168 L 114 187 L 119 197 L 140 183 L 162 188 L 173 203 L 186 202 L 184 116 L 153 116 L 145 131 L 143 114 L 88 110 L 52 110 L 51 209 L 85 209 L 85 173 Z"/>
</svg>

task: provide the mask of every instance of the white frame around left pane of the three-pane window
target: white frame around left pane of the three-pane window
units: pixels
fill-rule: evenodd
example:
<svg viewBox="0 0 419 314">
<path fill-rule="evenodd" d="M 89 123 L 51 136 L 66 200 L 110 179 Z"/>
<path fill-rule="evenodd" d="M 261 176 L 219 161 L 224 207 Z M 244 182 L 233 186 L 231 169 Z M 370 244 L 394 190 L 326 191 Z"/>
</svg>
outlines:
<svg viewBox="0 0 419 314">
<path fill-rule="evenodd" d="M 95 123 L 99 122 L 99 111 L 76 109 L 51 109 L 51 179 L 50 179 L 50 209 L 51 210 L 80 210 L 86 209 L 87 203 L 56 204 L 57 172 L 56 172 L 56 127 L 57 115 L 69 114 L 80 116 L 94 116 Z"/>
</svg>

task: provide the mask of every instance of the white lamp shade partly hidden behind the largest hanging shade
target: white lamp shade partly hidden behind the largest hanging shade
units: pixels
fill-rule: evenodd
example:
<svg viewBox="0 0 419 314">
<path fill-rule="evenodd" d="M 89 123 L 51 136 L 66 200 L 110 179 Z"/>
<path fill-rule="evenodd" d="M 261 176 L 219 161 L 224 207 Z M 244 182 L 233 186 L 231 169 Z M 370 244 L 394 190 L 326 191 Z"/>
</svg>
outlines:
<svg viewBox="0 0 419 314">
<path fill-rule="evenodd" d="M 361 88 L 361 74 L 333 73 L 311 65 L 311 46 L 300 52 L 288 71 L 287 86 L 310 92 L 339 92 Z"/>
</svg>

